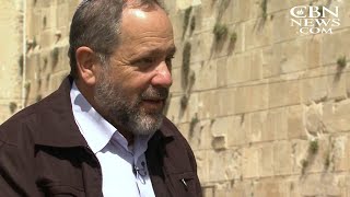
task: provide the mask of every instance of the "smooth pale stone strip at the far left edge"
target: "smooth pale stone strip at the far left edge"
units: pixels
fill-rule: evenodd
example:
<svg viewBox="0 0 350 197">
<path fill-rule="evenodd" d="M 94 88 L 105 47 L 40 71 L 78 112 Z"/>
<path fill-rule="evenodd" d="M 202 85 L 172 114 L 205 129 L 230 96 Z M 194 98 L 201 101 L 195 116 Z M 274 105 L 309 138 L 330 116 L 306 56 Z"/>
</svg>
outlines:
<svg viewBox="0 0 350 197">
<path fill-rule="evenodd" d="M 23 2 L 0 1 L 0 123 L 22 106 Z"/>
</svg>

